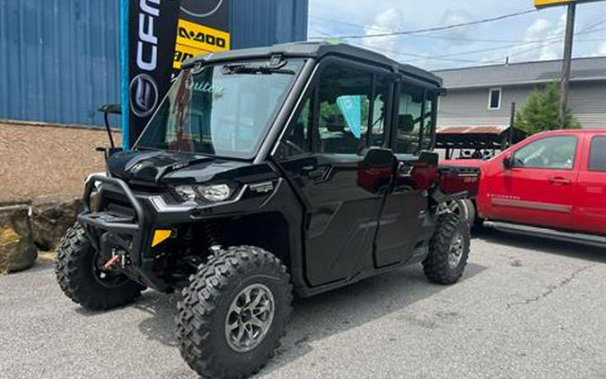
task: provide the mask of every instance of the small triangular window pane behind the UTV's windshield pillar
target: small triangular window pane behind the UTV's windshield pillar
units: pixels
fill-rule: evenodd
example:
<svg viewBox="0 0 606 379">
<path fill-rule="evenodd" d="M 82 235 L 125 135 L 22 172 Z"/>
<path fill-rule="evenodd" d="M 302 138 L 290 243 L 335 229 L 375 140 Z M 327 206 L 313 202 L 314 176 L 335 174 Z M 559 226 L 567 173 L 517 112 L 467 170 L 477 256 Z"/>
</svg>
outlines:
<svg viewBox="0 0 606 379">
<path fill-rule="evenodd" d="M 307 153 L 312 153 L 312 99 L 309 97 L 282 137 L 277 155 L 285 159 Z"/>
</svg>

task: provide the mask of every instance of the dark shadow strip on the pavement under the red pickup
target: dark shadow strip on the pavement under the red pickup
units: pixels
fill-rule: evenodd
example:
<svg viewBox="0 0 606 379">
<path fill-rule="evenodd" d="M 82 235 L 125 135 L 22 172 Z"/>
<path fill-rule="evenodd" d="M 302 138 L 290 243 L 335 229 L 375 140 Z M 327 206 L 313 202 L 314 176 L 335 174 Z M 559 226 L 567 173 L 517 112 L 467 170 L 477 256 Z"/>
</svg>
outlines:
<svg viewBox="0 0 606 379">
<path fill-rule="evenodd" d="M 563 242 L 549 238 L 535 237 L 526 234 L 515 234 L 482 228 L 474 231 L 474 239 L 491 243 L 508 245 L 549 254 L 558 254 L 570 258 L 606 263 L 606 249 L 585 245 L 583 243 Z"/>
</svg>

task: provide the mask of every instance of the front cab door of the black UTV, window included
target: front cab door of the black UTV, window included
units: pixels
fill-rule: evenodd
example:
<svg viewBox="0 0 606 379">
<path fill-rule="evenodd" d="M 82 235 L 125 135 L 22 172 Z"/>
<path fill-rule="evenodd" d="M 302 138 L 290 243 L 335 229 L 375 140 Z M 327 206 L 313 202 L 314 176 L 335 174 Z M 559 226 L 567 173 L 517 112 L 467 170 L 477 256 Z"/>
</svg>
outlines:
<svg viewBox="0 0 606 379">
<path fill-rule="evenodd" d="M 373 269 L 373 242 L 394 167 L 385 130 L 393 75 L 324 58 L 275 158 L 307 215 L 305 276 L 320 286 Z M 373 147 L 374 146 L 374 147 Z"/>
</svg>

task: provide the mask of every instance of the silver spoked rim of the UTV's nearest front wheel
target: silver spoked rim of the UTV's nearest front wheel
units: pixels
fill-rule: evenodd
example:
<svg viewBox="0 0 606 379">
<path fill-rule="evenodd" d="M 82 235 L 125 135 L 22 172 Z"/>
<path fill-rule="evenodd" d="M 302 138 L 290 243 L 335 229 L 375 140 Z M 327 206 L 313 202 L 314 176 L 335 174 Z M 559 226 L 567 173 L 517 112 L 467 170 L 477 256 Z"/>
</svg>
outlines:
<svg viewBox="0 0 606 379">
<path fill-rule="evenodd" d="M 225 317 L 225 339 L 234 351 L 245 353 L 259 346 L 274 321 L 274 295 L 267 286 L 247 286 L 235 296 Z"/>
</svg>

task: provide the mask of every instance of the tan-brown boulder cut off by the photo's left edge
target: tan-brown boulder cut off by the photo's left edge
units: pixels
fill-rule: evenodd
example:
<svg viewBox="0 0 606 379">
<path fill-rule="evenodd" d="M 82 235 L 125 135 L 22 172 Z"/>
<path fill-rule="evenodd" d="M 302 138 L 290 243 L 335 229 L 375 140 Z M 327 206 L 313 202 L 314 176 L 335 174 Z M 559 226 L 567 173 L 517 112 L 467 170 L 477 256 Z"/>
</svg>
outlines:
<svg viewBox="0 0 606 379">
<path fill-rule="evenodd" d="M 29 269 L 38 258 L 29 218 L 30 207 L 0 207 L 0 273 Z"/>
</svg>

